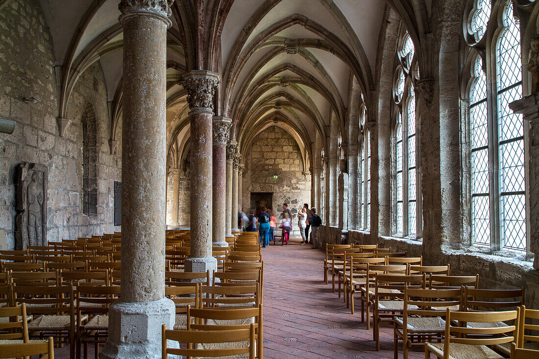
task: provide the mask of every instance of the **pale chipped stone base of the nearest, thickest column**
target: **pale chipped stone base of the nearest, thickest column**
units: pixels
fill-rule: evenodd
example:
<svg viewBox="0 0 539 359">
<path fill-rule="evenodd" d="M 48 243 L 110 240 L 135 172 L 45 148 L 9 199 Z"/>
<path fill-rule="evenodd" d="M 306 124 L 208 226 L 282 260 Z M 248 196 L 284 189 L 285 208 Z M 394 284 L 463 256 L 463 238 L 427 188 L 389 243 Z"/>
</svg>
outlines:
<svg viewBox="0 0 539 359">
<path fill-rule="evenodd" d="M 174 328 L 176 307 L 168 298 L 151 302 L 116 302 L 109 309 L 109 335 L 100 359 L 161 358 L 161 327 Z M 176 345 L 174 345 L 176 344 Z M 177 342 L 169 347 L 177 348 Z"/>
</svg>

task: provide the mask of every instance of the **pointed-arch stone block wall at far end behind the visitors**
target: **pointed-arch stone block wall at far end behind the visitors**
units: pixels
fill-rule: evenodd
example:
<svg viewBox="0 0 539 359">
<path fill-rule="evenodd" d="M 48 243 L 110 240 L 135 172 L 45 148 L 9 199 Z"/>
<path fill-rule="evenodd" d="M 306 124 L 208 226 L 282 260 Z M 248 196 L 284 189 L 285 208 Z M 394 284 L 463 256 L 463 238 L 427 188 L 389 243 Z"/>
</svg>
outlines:
<svg viewBox="0 0 539 359">
<path fill-rule="evenodd" d="M 243 156 L 243 210 L 248 211 L 251 206 L 251 192 L 273 192 L 272 209 L 279 220 L 278 226 L 282 204 L 287 203 L 295 229 L 292 236 L 301 238 L 296 213 L 303 203 L 310 202 L 310 174 L 303 174 L 301 151 L 294 137 L 280 127 L 268 127 L 257 135 Z"/>
</svg>

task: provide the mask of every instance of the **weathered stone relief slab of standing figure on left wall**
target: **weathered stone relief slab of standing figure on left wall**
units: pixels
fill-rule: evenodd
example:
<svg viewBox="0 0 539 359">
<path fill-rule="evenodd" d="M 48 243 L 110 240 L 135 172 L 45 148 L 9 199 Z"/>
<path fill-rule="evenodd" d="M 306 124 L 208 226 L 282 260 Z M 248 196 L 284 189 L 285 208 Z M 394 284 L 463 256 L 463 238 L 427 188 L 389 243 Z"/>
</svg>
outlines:
<svg viewBox="0 0 539 359">
<path fill-rule="evenodd" d="M 23 162 L 16 169 L 15 240 L 18 250 L 47 244 L 47 189 L 49 169 Z"/>
</svg>

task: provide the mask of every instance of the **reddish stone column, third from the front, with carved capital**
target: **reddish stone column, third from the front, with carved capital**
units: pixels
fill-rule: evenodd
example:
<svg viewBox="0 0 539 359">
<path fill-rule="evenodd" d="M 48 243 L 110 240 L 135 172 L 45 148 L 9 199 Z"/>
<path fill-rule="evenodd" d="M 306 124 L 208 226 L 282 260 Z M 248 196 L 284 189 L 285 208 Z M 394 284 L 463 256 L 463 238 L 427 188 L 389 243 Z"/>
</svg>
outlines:
<svg viewBox="0 0 539 359">
<path fill-rule="evenodd" d="M 226 141 L 232 120 L 213 116 L 213 229 L 214 247 L 228 247 L 226 243 Z"/>
</svg>

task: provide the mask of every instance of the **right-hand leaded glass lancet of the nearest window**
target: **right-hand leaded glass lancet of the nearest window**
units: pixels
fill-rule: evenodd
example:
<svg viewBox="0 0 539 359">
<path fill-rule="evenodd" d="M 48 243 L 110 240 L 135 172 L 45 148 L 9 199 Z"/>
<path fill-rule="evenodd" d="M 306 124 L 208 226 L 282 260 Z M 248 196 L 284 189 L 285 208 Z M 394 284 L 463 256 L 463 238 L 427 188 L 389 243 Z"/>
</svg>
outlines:
<svg viewBox="0 0 539 359">
<path fill-rule="evenodd" d="M 503 12 L 505 30 L 497 51 L 497 132 L 500 168 L 501 246 L 526 250 L 526 196 L 524 189 L 524 124 L 509 103 L 522 98 L 520 28 L 513 3 Z"/>
</svg>

